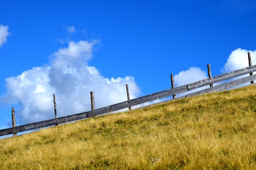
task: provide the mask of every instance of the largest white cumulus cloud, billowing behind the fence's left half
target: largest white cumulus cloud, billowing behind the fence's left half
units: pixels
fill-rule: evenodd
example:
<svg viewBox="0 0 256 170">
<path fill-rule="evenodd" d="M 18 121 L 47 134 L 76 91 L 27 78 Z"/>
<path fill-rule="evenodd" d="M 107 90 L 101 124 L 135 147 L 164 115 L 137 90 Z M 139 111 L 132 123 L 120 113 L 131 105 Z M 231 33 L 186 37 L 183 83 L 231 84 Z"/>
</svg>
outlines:
<svg viewBox="0 0 256 170">
<path fill-rule="evenodd" d="M 109 79 L 87 64 L 96 43 L 69 42 L 68 47 L 53 52 L 48 65 L 7 78 L 7 91 L 0 98 L 1 103 L 18 103 L 18 119 L 30 123 L 54 118 L 53 93 L 58 116 L 90 111 L 90 91 L 95 93 L 96 108 L 126 101 L 125 84 L 129 84 L 130 97 L 138 97 L 140 90 L 134 77 Z"/>
</svg>

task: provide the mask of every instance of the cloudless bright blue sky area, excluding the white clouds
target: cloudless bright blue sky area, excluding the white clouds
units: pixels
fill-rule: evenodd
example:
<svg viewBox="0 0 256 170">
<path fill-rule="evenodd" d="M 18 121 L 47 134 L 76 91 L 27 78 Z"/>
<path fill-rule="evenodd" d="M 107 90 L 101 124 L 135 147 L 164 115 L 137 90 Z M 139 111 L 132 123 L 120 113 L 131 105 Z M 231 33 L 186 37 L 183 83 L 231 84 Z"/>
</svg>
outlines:
<svg viewBox="0 0 256 170">
<path fill-rule="evenodd" d="M 1 1 L 0 94 L 7 77 L 48 64 L 68 41 L 99 40 L 88 64 L 102 76 L 134 77 L 142 95 L 171 87 L 189 67 L 221 74 L 233 50 L 255 49 L 256 1 Z M 67 28 L 75 27 L 75 33 Z M 1 114 L 2 112 L 2 114 Z M 3 113 L 4 112 L 4 113 Z M 11 118 L 1 106 L 0 126 Z"/>
</svg>

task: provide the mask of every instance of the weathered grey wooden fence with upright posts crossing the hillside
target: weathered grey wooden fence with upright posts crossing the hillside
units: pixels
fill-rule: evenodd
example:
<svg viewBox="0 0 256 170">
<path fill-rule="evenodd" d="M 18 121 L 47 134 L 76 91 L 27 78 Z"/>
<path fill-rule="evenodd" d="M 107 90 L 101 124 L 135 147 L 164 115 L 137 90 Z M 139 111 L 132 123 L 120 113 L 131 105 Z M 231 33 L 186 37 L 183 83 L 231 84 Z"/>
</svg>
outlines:
<svg viewBox="0 0 256 170">
<path fill-rule="evenodd" d="M 52 125 L 59 125 L 62 123 L 69 123 L 75 120 L 84 120 L 96 115 L 103 115 L 106 113 L 111 113 L 114 111 L 119 111 L 121 109 L 124 108 L 129 108 L 129 110 L 131 109 L 132 106 L 137 106 L 139 104 L 143 104 L 149 101 L 155 101 L 157 99 L 160 98 L 166 98 L 168 96 L 173 96 L 173 98 L 175 98 L 176 94 L 182 94 L 184 92 L 189 92 L 192 91 L 194 89 L 198 89 L 201 88 L 203 86 L 209 86 L 208 89 L 203 89 L 201 91 L 196 91 L 193 92 L 191 94 L 187 94 L 185 97 L 190 97 L 190 96 L 196 96 L 196 95 L 200 95 L 200 94 L 206 94 L 206 93 L 210 93 L 213 91 L 223 91 L 225 89 L 231 88 L 233 86 L 239 86 L 240 84 L 245 84 L 247 82 L 251 82 L 251 84 L 253 84 L 253 81 L 256 79 L 256 74 L 253 75 L 252 72 L 256 72 L 256 65 L 252 65 L 251 63 L 251 59 L 250 59 L 250 53 L 248 52 L 248 59 L 249 59 L 249 67 L 245 67 L 243 69 L 238 69 L 235 70 L 233 72 L 229 72 L 226 74 L 220 74 L 216 77 L 211 77 L 211 73 L 210 73 L 210 64 L 208 64 L 208 75 L 209 78 L 208 79 L 203 79 L 201 81 L 196 81 L 193 82 L 191 84 L 186 84 L 183 86 L 178 86 L 178 87 L 174 87 L 174 83 L 173 83 L 173 75 L 171 75 L 171 81 L 172 81 L 172 88 L 165 90 L 165 91 L 160 91 L 157 92 L 155 94 L 149 94 L 146 96 L 142 96 L 139 98 L 134 98 L 134 99 L 129 99 L 129 89 L 127 86 L 127 101 L 123 101 L 121 103 L 116 103 L 110 106 L 106 106 L 103 108 L 97 108 L 95 109 L 95 103 L 94 103 L 94 95 L 93 92 L 91 92 L 91 103 L 92 103 L 92 111 L 87 111 L 87 112 L 82 112 L 82 113 L 77 113 L 74 115 L 67 115 L 67 116 L 63 116 L 60 118 L 56 118 L 56 103 L 55 103 L 55 95 L 54 95 L 54 109 L 55 109 L 55 118 L 54 119 L 50 119 L 50 120 L 43 120 L 40 122 L 36 122 L 36 123 L 29 123 L 26 125 L 19 125 L 16 126 L 16 123 L 14 125 L 15 122 L 15 111 L 13 113 L 12 111 L 12 117 L 13 117 L 13 128 L 6 128 L 6 129 L 2 129 L 0 130 L 0 136 L 4 136 L 4 135 L 10 135 L 10 134 L 14 134 L 16 135 L 17 132 L 24 132 L 27 130 L 35 130 L 38 128 L 45 128 L 45 127 L 49 127 Z M 245 74 L 250 74 L 247 77 L 242 77 L 240 79 L 235 79 L 233 81 L 228 81 L 228 82 L 224 82 L 223 84 L 218 84 L 217 86 L 213 86 L 213 84 L 218 83 L 220 81 L 226 81 L 228 79 L 233 79 L 235 77 L 240 77 L 242 75 Z"/>
</svg>

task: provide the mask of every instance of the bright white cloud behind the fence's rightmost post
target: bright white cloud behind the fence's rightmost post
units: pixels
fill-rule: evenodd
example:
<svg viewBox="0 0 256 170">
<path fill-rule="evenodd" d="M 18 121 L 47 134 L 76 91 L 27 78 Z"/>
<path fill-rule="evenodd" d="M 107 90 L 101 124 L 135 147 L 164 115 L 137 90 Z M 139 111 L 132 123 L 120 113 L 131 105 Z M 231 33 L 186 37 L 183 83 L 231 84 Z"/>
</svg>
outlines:
<svg viewBox="0 0 256 170">
<path fill-rule="evenodd" d="M 238 48 L 237 50 L 234 50 L 233 52 L 231 52 L 221 72 L 223 73 L 231 72 L 236 69 L 242 69 L 244 67 L 248 67 L 249 62 L 248 62 L 247 52 L 250 52 L 250 55 L 252 58 L 252 65 L 256 64 L 256 50 L 250 51 L 250 50 L 242 50 L 241 48 Z"/>
</svg>

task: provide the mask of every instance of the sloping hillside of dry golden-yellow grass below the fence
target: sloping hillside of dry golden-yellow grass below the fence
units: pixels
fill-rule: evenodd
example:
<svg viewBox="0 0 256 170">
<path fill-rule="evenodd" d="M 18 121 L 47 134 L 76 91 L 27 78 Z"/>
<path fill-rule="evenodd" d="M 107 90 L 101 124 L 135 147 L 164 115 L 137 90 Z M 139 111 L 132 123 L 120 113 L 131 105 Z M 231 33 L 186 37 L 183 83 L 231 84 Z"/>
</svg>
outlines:
<svg viewBox="0 0 256 170">
<path fill-rule="evenodd" d="M 255 169 L 256 86 L 0 140 L 0 169 Z"/>
</svg>

